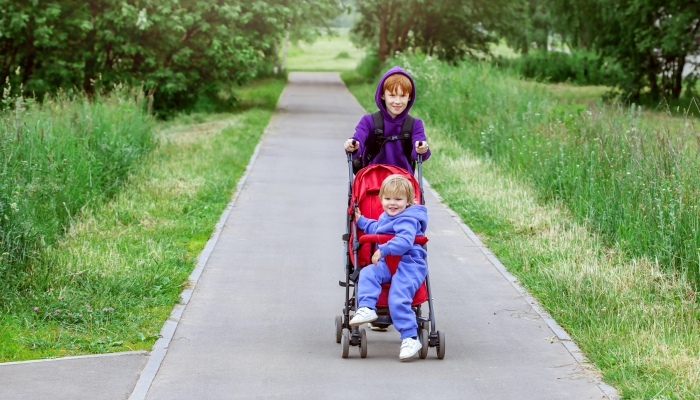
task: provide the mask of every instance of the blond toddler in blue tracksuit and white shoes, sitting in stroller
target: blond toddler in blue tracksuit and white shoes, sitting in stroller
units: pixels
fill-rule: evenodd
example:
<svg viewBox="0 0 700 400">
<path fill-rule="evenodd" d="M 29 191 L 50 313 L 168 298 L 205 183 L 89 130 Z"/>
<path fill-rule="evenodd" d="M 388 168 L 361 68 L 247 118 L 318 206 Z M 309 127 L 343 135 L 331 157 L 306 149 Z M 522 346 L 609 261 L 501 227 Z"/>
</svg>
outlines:
<svg viewBox="0 0 700 400">
<path fill-rule="evenodd" d="M 411 302 L 423 284 L 428 272 L 425 263 L 427 252 L 413 244 L 416 236 L 422 236 L 428 227 L 428 211 L 425 206 L 414 205 L 413 185 L 402 175 L 391 175 L 382 182 L 379 199 L 384 212 L 378 220 L 368 219 L 355 210 L 357 226 L 367 234 L 395 235 L 387 243 L 378 246 L 372 255 L 372 264 L 360 271 L 357 287 L 357 311 L 350 326 L 362 325 L 376 320 L 376 304 L 382 291 L 382 283 L 391 282 L 389 289 L 389 312 L 394 327 L 401 334 L 399 358 L 405 360 L 421 349 L 418 340 L 416 315 Z M 391 276 L 384 261 L 387 255 L 401 256 L 398 269 Z"/>
</svg>

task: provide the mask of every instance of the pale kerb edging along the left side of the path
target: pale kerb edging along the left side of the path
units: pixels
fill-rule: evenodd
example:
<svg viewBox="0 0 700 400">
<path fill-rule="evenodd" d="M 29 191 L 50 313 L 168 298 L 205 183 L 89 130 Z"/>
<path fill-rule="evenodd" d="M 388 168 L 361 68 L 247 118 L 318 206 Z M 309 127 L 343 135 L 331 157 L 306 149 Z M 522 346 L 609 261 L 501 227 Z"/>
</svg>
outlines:
<svg viewBox="0 0 700 400">
<path fill-rule="evenodd" d="M 284 90 L 282 91 L 282 93 L 280 93 L 280 99 L 283 95 Z M 255 146 L 255 150 L 253 150 L 253 154 L 250 156 L 250 160 L 248 161 L 248 165 L 246 166 L 245 172 L 243 172 L 243 175 L 241 175 L 240 179 L 238 180 L 238 184 L 236 185 L 236 190 L 234 191 L 233 196 L 231 197 L 231 201 L 229 201 L 229 203 L 226 205 L 226 208 L 221 213 L 219 221 L 214 227 L 214 232 L 209 237 L 207 243 L 204 245 L 204 249 L 202 249 L 202 251 L 199 253 L 199 256 L 197 257 L 197 266 L 194 268 L 194 270 L 192 270 L 192 273 L 190 273 L 189 276 L 189 284 L 180 293 L 180 302 L 177 305 L 175 305 L 175 307 L 173 307 L 173 310 L 170 312 L 168 320 L 165 321 L 165 323 L 163 324 L 163 328 L 160 330 L 160 338 L 156 340 L 156 342 L 153 344 L 150 356 L 148 357 L 148 362 L 143 367 L 143 370 L 139 375 L 139 380 L 136 382 L 136 386 L 134 386 L 134 390 L 129 396 L 129 400 L 144 400 L 146 398 L 146 395 L 148 394 L 148 391 L 151 389 L 151 385 L 155 380 L 156 374 L 158 373 L 158 370 L 160 369 L 160 366 L 163 363 L 163 360 L 165 359 L 165 355 L 168 352 L 170 341 L 172 340 L 173 335 L 175 334 L 175 330 L 177 329 L 177 326 L 180 322 L 180 318 L 182 317 L 185 308 L 187 308 L 187 304 L 189 304 L 190 302 L 190 298 L 194 293 L 194 289 L 197 286 L 197 282 L 199 282 L 199 278 L 202 276 L 202 272 L 204 272 L 204 267 L 206 267 L 206 264 L 209 261 L 209 256 L 214 250 L 216 244 L 218 243 L 219 236 L 221 236 L 221 231 L 224 229 L 224 225 L 226 224 L 226 221 L 228 220 L 228 217 L 231 214 L 231 210 L 235 206 L 236 200 L 238 199 L 238 196 L 243 190 L 243 186 L 245 185 L 246 180 L 248 179 L 248 175 L 251 169 L 253 168 L 253 165 L 255 164 L 255 160 L 257 160 L 258 158 L 260 148 L 262 147 L 265 137 L 268 135 L 268 131 L 272 126 L 273 118 L 274 114 L 270 118 L 270 122 L 268 122 L 267 126 L 265 127 L 263 134 L 260 136 L 260 140 Z"/>
</svg>

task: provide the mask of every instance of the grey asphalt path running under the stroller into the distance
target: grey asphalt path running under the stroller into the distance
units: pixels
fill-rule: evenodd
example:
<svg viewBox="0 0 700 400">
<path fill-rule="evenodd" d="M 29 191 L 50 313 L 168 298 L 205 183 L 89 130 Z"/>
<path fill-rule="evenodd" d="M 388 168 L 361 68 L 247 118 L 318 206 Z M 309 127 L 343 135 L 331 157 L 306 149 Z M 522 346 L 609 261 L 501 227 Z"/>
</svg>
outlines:
<svg viewBox="0 0 700 400">
<path fill-rule="evenodd" d="M 342 142 L 363 113 L 338 74 L 290 74 L 146 398 L 605 398 L 594 376 L 552 339 L 557 335 L 540 314 L 429 191 L 430 276 L 445 359 L 431 349 L 425 360 L 400 362 L 393 329 L 369 332 L 366 359 L 357 348 L 341 358 L 334 317 L 344 296 L 338 286 L 347 201 Z M 121 386 L 91 398 L 131 393 L 145 356 L 130 357 L 114 372 L 125 377 Z M 118 359 L 111 357 L 112 364 Z M 2 387 L 0 398 L 21 398 L 3 395 L 22 393 L 16 387 L 22 374 L 36 373 L 21 365 L 24 370 L 0 366 L 0 386 L 15 377 L 14 391 Z M 34 376 L 41 385 L 43 378 Z"/>
</svg>

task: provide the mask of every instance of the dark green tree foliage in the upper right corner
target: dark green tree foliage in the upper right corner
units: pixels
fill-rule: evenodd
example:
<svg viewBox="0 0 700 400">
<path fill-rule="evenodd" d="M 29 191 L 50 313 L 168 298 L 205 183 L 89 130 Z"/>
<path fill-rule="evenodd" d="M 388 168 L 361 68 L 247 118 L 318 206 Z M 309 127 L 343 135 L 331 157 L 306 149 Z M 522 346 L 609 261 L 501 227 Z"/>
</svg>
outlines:
<svg viewBox="0 0 700 400">
<path fill-rule="evenodd" d="M 653 99 L 680 97 L 686 57 L 700 49 L 696 1 L 550 0 L 549 8 L 570 43 L 620 65 L 626 98 L 636 101 L 647 88 Z"/>
</svg>

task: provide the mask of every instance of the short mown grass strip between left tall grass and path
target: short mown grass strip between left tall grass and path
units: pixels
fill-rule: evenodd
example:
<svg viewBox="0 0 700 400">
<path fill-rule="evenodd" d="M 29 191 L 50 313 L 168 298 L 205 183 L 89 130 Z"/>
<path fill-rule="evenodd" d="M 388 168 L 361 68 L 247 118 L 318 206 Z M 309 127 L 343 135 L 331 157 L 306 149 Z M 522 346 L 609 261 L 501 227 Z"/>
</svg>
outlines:
<svg viewBox="0 0 700 400">
<path fill-rule="evenodd" d="M 161 124 L 128 184 L 84 207 L 3 300 L 0 361 L 150 349 L 283 87 L 240 90 L 237 114 Z"/>
</svg>

